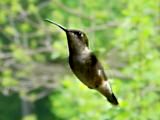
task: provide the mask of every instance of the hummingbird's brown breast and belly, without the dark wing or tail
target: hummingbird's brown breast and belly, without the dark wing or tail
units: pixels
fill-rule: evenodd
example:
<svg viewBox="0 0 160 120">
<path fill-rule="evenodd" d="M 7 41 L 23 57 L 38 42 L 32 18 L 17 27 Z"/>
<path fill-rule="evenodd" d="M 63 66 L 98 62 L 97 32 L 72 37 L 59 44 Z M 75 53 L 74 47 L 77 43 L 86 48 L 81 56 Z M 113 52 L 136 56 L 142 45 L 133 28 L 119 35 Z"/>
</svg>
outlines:
<svg viewBox="0 0 160 120">
<path fill-rule="evenodd" d="M 91 53 L 84 52 L 80 55 L 70 55 L 69 64 L 78 79 L 89 88 L 95 88 L 95 82 L 100 81 L 97 77 L 97 69 L 91 62 Z"/>
</svg>

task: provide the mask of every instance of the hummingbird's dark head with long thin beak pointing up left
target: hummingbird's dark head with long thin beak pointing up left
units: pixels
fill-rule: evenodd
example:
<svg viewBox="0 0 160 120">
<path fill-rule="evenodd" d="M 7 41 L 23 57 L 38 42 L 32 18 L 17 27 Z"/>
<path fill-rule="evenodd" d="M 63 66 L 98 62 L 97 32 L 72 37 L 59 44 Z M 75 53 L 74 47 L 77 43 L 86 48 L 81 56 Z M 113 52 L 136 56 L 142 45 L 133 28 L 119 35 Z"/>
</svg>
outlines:
<svg viewBox="0 0 160 120">
<path fill-rule="evenodd" d="M 69 49 L 71 52 L 81 52 L 86 47 L 88 47 L 88 38 L 84 32 L 79 30 L 66 29 L 49 19 L 46 19 L 46 21 L 58 26 L 66 33 Z"/>
</svg>

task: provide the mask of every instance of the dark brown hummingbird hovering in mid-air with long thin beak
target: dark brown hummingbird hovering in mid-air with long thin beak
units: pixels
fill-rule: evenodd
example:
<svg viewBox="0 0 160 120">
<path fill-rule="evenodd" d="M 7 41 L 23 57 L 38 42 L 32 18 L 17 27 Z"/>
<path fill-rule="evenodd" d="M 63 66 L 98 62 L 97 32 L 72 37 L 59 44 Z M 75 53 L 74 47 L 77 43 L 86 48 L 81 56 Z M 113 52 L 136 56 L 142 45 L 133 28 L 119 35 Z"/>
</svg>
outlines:
<svg viewBox="0 0 160 120">
<path fill-rule="evenodd" d="M 66 33 L 69 65 L 75 76 L 88 88 L 100 92 L 111 104 L 118 105 L 118 100 L 101 63 L 89 49 L 86 34 L 80 30 L 67 29 L 49 19 L 45 19 L 45 21 L 58 26 Z"/>
</svg>

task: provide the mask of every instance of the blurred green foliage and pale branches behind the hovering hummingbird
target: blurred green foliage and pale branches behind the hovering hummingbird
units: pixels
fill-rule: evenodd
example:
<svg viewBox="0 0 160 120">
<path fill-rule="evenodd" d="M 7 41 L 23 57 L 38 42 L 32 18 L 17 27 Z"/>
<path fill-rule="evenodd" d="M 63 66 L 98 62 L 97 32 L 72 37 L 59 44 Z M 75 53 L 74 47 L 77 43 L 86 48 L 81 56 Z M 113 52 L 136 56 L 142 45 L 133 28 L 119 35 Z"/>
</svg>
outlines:
<svg viewBox="0 0 160 120">
<path fill-rule="evenodd" d="M 84 31 L 120 105 L 71 72 L 65 33 Z M 0 120 L 159 120 L 159 0 L 1 0 Z"/>
</svg>

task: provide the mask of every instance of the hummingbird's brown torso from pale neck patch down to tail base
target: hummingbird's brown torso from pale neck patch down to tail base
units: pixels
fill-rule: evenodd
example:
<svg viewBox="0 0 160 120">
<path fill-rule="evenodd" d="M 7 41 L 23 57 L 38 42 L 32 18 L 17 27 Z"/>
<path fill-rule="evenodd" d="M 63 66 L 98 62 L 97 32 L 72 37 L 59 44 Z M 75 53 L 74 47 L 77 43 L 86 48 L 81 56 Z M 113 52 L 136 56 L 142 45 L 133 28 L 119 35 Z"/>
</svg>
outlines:
<svg viewBox="0 0 160 120">
<path fill-rule="evenodd" d="M 102 80 L 98 74 L 102 67 L 88 48 L 79 55 L 69 55 L 69 64 L 74 74 L 89 88 L 94 89 L 101 84 Z M 106 78 L 105 74 L 103 77 Z"/>
</svg>

